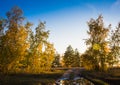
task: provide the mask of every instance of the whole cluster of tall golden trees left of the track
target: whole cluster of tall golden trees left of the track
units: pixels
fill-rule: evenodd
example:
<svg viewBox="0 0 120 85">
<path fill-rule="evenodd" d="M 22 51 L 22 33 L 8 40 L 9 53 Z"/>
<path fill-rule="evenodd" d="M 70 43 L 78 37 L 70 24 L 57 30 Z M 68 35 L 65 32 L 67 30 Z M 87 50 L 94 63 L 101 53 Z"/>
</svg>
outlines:
<svg viewBox="0 0 120 85">
<path fill-rule="evenodd" d="M 54 45 L 48 41 L 49 31 L 40 22 L 32 31 L 32 23 L 23 24 L 23 11 L 13 7 L 7 19 L 0 18 L 0 67 L 6 72 L 49 70 L 54 60 Z"/>
</svg>

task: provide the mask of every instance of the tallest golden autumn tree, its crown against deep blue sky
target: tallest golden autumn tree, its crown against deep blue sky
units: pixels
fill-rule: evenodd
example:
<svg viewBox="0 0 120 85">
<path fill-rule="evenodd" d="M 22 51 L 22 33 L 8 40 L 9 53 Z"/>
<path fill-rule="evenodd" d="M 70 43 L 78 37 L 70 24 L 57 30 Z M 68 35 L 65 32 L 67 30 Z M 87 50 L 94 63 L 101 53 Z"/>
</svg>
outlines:
<svg viewBox="0 0 120 85">
<path fill-rule="evenodd" d="M 15 63 L 19 63 L 26 53 L 27 32 L 22 24 L 24 17 L 20 8 L 13 7 L 6 15 L 7 30 L 3 40 L 2 65 L 5 65 L 5 71 L 8 71 L 16 68 Z"/>
</svg>

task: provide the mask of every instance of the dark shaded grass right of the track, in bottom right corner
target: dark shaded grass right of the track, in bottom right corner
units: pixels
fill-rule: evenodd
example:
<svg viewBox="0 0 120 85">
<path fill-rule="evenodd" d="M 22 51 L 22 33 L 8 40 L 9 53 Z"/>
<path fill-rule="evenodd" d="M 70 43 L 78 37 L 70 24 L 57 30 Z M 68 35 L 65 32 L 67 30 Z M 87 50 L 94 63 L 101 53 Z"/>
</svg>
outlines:
<svg viewBox="0 0 120 85">
<path fill-rule="evenodd" d="M 120 68 L 112 68 L 107 72 L 83 71 L 82 75 L 96 85 L 120 85 Z"/>
</svg>

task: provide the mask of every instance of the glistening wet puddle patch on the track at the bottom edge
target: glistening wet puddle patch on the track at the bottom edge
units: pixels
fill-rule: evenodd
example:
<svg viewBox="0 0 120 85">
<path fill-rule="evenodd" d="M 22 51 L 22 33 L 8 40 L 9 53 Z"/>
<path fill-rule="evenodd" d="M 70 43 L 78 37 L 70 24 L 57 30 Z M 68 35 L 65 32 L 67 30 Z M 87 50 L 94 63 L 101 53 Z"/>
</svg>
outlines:
<svg viewBox="0 0 120 85">
<path fill-rule="evenodd" d="M 74 78 L 73 80 L 59 79 L 55 85 L 94 85 L 92 82 L 84 78 Z"/>
</svg>

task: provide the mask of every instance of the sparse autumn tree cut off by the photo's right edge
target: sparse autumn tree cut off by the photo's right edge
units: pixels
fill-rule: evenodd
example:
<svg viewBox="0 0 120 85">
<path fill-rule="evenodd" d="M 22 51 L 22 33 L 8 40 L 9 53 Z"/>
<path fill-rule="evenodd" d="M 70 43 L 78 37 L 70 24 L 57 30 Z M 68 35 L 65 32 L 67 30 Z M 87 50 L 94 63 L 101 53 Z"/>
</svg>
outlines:
<svg viewBox="0 0 120 85">
<path fill-rule="evenodd" d="M 113 66 L 115 63 L 119 62 L 120 58 L 120 23 L 114 31 L 111 33 L 110 38 L 110 48 L 111 52 L 109 53 L 108 58 L 110 59 L 109 65 Z"/>
</svg>

